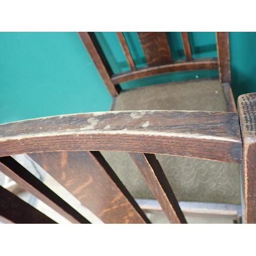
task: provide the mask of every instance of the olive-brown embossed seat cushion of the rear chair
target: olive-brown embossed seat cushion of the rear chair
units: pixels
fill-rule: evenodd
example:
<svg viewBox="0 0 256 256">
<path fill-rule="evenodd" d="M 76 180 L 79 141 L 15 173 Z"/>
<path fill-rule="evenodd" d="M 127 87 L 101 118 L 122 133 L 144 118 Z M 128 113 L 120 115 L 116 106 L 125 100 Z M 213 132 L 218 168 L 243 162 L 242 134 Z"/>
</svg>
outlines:
<svg viewBox="0 0 256 256">
<path fill-rule="evenodd" d="M 127 90 L 117 97 L 113 110 L 228 111 L 218 80 Z M 128 153 L 101 153 L 133 197 L 155 199 Z M 241 204 L 240 164 L 178 156 L 156 157 L 179 201 Z"/>
</svg>

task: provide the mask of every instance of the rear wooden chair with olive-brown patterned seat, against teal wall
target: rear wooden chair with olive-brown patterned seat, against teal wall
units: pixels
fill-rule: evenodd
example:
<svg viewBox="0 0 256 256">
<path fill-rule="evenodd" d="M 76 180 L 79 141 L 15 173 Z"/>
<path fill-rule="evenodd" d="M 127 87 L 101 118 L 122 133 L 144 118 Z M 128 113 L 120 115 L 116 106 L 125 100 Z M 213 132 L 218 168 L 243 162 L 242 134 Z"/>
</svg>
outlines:
<svg viewBox="0 0 256 256">
<path fill-rule="evenodd" d="M 130 71 L 113 74 L 94 33 L 79 32 L 106 88 L 113 97 L 111 111 L 179 110 L 236 113 L 230 88 L 228 32 L 217 32 L 218 58 L 193 58 L 188 33 L 181 32 L 185 59 L 173 61 L 165 32 L 138 32 L 147 66 L 136 68 L 122 32 L 116 32 Z M 219 70 L 217 79 L 198 79 L 121 90 L 119 83 L 157 74 Z M 101 152 L 135 198 L 150 210 L 155 196 L 127 153 Z M 157 155 L 178 201 L 241 204 L 240 165 L 186 157 Z M 148 204 L 148 206 L 146 206 Z M 224 207 L 224 206 L 223 206 Z M 227 207 L 227 205 L 225 206 Z M 218 207 L 217 207 L 218 208 Z M 217 209 L 216 208 L 216 209 Z M 160 209 L 160 208 L 158 208 Z"/>
</svg>

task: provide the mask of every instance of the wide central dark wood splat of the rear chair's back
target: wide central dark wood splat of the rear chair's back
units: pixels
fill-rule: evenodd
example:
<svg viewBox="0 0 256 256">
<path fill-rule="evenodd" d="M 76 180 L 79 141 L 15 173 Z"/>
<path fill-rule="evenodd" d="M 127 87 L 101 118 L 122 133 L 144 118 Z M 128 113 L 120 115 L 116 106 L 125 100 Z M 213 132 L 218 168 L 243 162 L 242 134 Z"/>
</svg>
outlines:
<svg viewBox="0 0 256 256">
<path fill-rule="evenodd" d="M 165 32 L 137 32 L 148 67 L 173 63 Z"/>
</svg>

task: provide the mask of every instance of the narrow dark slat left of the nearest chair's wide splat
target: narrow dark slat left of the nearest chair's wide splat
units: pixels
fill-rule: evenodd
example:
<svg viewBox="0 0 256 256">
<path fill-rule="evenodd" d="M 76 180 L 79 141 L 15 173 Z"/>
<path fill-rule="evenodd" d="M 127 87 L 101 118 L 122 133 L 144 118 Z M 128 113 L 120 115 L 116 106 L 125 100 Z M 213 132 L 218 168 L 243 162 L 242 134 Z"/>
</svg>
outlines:
<svg viewBox="0 0 256 256">
<path fill-rule="evenodd" d="M 72 223 L 90 223 L 12 157 L 0 158 L 0 171 Z"/>
</svg>

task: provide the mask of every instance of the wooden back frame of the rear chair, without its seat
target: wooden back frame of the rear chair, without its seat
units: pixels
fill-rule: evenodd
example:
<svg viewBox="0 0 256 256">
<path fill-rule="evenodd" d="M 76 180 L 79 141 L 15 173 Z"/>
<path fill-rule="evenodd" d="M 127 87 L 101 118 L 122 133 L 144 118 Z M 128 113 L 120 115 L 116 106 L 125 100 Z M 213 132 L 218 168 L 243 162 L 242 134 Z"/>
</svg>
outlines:
<svg viewBox="0 0 256 256">
<path fill-rule="evenodd" d="M 165 32 L 138 32 L 142 49 L 148 66 L 137 69 L 132 54 L 127 46 L 122 32 L 116 32 L 126 57 L 130 71 L 114 74 L 106 59 L 100 44 L 93 32 L 78 32 L 84 46 L 90 54 L 106 88 L 115 98 L 121 92 L 119 83 L 134 79 L 163 74 L 168 72 L 219 69 L 219 79 L 222 82 L 228 111 L 237 112 L 232 90 L 230 87 L 230 56 L 228 32 L 216 32 L 218 58 L 192 58 L 188 34 L 181 32 L 183 50 L 186 59 L 172 60 Z M 157 51 L 157 48 L 161 49 Z"/>
</svg>

